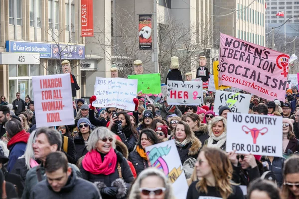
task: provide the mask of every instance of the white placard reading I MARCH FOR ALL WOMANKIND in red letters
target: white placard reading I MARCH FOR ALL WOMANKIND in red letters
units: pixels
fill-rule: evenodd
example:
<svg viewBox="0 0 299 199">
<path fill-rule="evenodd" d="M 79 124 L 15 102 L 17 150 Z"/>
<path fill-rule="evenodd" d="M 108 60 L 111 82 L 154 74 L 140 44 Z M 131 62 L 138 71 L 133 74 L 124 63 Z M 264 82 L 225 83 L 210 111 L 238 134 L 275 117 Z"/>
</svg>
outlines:
<svg viewBox="0 0 299 199">
<path fill-rule="evenodd" d="M 32 87 L 37 128 L 75 123 L 70 74 L 33 76 Z"/>
</svg>

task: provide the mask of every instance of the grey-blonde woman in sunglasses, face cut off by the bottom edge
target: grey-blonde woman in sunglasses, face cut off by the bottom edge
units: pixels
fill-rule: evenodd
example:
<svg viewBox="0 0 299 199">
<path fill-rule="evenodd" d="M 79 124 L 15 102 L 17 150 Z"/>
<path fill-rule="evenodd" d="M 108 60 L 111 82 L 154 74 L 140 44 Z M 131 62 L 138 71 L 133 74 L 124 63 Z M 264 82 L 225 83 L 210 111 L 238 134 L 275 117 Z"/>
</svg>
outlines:
<svg viewBox="0 0 299 199">
<path fill-rule="evenodd" d="M 175 197 L 165 174 L 156 168 L 148 168 L 139 174 L 132 185 L 129 199 L 175 199 Z"/>
</svg>

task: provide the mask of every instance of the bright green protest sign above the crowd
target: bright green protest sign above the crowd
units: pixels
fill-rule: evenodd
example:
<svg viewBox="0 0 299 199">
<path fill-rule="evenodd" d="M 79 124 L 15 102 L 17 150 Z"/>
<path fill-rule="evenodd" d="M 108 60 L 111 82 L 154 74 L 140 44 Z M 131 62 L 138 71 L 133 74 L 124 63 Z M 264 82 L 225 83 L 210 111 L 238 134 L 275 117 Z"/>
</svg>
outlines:
<svg viewBox="0 0 299 199">
<path fill-rule="evenodd" d="M 142 94 L 160 94 L 161 80 L 160 74 L 129 75 L 128 79 L 138 80 L 137 92 Z"/>
</svg>

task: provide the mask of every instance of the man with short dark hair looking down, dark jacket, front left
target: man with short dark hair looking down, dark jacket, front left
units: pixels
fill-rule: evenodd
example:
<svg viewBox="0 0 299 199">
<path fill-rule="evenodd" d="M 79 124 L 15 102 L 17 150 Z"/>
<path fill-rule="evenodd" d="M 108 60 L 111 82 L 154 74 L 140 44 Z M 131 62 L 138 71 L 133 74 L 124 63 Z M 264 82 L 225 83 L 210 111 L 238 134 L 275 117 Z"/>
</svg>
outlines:
<svg viewBox="0 0 299 199">
<path fill-rule="evenodd" d="M 93 183 L 79 178 L 68 166 L 65 154 L 50 153 L 44 168 L 47 179 L 34 187 L 30 199 L 102 199 Z"/>
</svg>

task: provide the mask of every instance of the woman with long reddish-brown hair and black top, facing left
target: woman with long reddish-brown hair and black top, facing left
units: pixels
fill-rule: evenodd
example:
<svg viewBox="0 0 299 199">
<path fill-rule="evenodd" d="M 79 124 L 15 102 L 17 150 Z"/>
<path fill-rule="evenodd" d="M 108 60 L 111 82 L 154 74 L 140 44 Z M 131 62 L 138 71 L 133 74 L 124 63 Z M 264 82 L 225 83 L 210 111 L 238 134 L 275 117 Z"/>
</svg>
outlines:
<svg viewBox="0 0 299 199">
<path fill-rule="evenodd" d="M 201 180 L 190 185 L 186 199 L 244 199 L 241 188 L 231 182 L 233 168 L 224 151 L 204 147 L 195 167 L 197 178 Z"/>
</svg>

